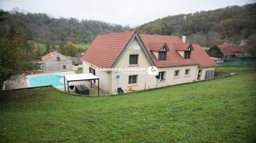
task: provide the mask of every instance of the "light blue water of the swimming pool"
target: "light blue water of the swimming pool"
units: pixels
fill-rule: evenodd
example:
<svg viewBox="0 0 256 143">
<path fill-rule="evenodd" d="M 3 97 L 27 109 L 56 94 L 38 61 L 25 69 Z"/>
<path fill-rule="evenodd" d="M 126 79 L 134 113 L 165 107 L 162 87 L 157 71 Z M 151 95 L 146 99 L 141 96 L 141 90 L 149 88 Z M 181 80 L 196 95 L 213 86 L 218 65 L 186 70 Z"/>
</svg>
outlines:
<svg viewBox="0 0 256 143">
<path fill-rule="evenodd" d="M 28 79 L 30 86 L 43 86 L 43 85 L 53 85 L 54 87 L 57 86 L 64 86 L 64 83 L 60 82 L 63 79 L 63 76 L 59 75 L 46 75 L 46 76 L 38 76 Z M 68 85 L 65 83 L 65 85 Z"/>
</svg>

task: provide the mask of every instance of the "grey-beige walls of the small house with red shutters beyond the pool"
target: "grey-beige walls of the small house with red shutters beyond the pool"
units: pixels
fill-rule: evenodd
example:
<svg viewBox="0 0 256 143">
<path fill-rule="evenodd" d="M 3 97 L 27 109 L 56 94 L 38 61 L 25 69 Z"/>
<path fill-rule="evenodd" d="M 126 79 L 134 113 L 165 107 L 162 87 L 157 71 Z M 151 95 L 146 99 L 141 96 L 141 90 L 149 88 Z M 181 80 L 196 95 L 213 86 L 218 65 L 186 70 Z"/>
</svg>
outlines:
<svg viewBox="0 0 256 143">
<path fill-rule="evenodd" d="M 60 61 L 57 61 L 56 57 L 60 57 Z M 66 68 L 63 68 L 63 65 L 66 65 Z M 54 57 L 44 62 L 44 69 L 45 72 L 72 70 L 72 61 L 56 54 Z"/>
</svg>

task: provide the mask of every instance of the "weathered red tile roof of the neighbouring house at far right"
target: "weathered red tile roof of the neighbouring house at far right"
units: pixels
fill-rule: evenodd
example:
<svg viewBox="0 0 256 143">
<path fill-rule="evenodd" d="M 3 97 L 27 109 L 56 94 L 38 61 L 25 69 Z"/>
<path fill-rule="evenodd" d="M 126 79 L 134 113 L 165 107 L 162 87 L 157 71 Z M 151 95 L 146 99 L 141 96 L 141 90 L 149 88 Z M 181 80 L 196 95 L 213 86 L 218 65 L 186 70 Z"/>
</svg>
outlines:
<svg viewBox="0 0 256 143">
<path fill-rule="evenodd" d="M 241 45 L 218 45 L 224 55 L 235 55 L 234 53 L 245 52 Z"/>
</svg>

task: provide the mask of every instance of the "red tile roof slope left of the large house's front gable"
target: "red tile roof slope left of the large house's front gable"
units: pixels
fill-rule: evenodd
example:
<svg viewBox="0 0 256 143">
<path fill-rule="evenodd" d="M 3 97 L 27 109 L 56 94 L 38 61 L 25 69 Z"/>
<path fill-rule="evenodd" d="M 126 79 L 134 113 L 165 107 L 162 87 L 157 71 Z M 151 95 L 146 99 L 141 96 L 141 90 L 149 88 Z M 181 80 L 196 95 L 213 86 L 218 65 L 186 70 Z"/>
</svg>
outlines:
<svg viewBox="0 0 256 143">
<path fill-rule="evenodd" d="M 100 68 L 113 67 L 137 31 L 98 35 L 83 55 L 83 61 Z"/>
</svg>

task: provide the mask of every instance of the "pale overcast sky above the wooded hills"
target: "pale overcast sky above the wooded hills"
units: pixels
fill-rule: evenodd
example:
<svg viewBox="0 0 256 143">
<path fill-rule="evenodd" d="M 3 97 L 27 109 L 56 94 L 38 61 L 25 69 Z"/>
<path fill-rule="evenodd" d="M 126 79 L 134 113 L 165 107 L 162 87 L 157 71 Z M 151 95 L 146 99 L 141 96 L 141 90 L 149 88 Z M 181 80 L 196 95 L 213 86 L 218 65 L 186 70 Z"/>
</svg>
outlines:
<svg viewBox="0 0 256 143">
<path fill-rule="evenodd" d="M 0 8 L 18 7 L 55 18 L 74 17 L 135 27 L 168 15 L 208 11 L 256 0 L 0 0 Z"/>
</svg>

